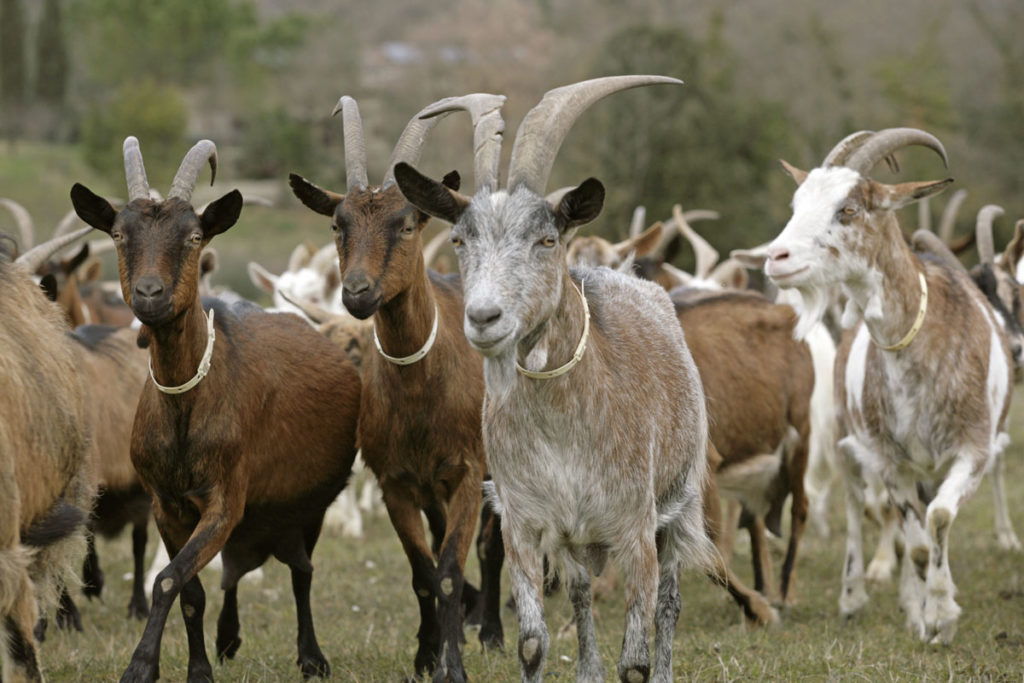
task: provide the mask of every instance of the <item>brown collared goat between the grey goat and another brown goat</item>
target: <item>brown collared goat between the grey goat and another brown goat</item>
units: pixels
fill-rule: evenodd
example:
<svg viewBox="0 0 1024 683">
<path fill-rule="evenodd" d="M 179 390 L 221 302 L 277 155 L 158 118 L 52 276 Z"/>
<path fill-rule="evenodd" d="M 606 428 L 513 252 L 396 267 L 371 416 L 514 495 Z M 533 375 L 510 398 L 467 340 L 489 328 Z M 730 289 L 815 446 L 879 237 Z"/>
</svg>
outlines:
<svg viewBox="0 0 1024 683">
<path fill-rule="evenodd" d="M 406 201 L 392 169 L 419 159 L 427 132 L 438 120 L 421 118 L 431 109 L 469 111 L 477 154 L 500 145 L 504 101 L 501 95 L 477 93 L 420 112 L 395 144 L 383 182 L 372 186 L 358 106 L 351 97 L 342 97 L 335 114 L 343 113 L 347 191 L 324 190 L 290 176 L 296 197 L 332 219 L 345 308 L 360 319 L 374 317 L 378 352 L 362 358 L 359 446 L 413 570 L 420 606 L 416 674 L 432 671 L 435 678 L 451 680 L 465 679 L 460 652 L 463 571 L 487 471 L 480 435 L 482 364 L 460 330 L 458 276 L 441 276 L 425 266 L 421 232 L 430 216 Z M 446 181 L 458 186 L 458 175 Z M 432 549 L 421 511 L 434 538 Z M 489 547 L 486 542 L 477 547 L 484 593 L 479 638 L 484 646 L 500 646 L 504 637 L 500 544 L 501 536 L 495 533 Z"/>
</svg>

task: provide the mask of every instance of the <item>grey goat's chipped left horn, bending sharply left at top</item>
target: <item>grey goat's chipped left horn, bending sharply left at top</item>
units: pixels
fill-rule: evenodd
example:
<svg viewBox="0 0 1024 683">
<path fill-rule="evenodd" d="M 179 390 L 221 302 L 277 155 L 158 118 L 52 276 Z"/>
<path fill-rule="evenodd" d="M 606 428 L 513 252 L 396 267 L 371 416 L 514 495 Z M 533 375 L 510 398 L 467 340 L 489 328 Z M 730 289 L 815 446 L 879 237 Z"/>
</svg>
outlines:
<svg viewBox="0 0 1024 683">
<path fill-rule="evenodd" d="M 499 166 L 502 160 L 502 140 L 505 133 L 505 119 L 502 118 L 502 106 L 505 105 L 505 95 L 493 95 L 486 92 L 474 92 L 461 97 L 447 97 L 434 102 L 420 113 L 419 118 L 435 120 L 452 112 L 462 110 L 469 113 L 473 123 L 473 189 L 484 186 L 498 188 Z M 410 122 L 412 125 L 412 122 Z M 397 153 L 397 147 L 395 153 Z M 394 164 L 398 161 L 391 156 L 394 163 L 388 163 L 388 173 L 393 181 Z M 415 162 L 410 162 L 415 163 Z"/>
</svg>

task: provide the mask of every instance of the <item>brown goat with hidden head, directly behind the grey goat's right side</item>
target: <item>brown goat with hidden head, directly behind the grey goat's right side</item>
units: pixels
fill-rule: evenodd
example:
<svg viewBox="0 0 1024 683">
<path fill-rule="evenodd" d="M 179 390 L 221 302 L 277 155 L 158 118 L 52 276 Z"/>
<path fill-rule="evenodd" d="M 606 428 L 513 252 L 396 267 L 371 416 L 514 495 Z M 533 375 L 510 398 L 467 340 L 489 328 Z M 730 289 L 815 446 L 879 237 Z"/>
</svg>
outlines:
<svg viewBox="0 0 1024 683">
<path fill-rule="evenodd" d="M 814 368 L 807 345 L 793 338 L 796 314 L 759 294 L 731 292 L 687 300 L 673 295 L 686 343 L 708 400 L 710 436 L 722 456 L 719 487 L 743 504 L 751 531 L 754 587 L 769 597 L 770 564 L 765 524 L 778 530 L 785 498 L 793 495 L 790 543 L 778 597 L 790 595 L 794 563 L 807 522 L 810 399 Z M 750 349 L 761 349 L 751 353 Z M 793 443 L 787 443 L 791 430 Z M 780 444 L 783 455 L 776 454 Z"/>
</svg>

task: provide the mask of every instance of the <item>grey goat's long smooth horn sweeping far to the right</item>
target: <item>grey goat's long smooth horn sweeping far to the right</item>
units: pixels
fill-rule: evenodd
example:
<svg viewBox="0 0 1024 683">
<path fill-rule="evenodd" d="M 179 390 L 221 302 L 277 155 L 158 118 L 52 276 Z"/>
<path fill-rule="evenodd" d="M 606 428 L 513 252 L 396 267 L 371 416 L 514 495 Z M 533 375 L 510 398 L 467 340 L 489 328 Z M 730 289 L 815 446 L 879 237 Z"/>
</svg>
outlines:
<svg viewBox="0 0 1024 683">
<path fill-rule="evenodd" d="M 543 196 L 558 148 L 581 114 L 621 90 L 658 83 L 683 82 L 666 76 L 608 76 L 549 90 L 516 131 L 509 162 L 509 189 L 525 185 Z"/>
</svg>

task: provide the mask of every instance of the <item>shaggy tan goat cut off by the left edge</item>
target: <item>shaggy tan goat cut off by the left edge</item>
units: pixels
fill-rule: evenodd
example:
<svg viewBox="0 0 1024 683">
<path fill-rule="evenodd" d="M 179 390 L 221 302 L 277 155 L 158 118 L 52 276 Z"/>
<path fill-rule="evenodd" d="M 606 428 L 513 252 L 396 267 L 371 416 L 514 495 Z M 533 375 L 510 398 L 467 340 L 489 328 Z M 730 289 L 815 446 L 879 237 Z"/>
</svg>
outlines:
<svg viewBox="0 0 1024 683">
<path fill-rule="evenodd" d="M 30 276 L 88 231 L 0 257 L 0 648 L 3 680 L 41 681 L 38 609 L 74 582 L 94 494 L 86 394 L 67 324 Z M 42 428 L 45 426 L 45 428 Z"/>
</svg>

